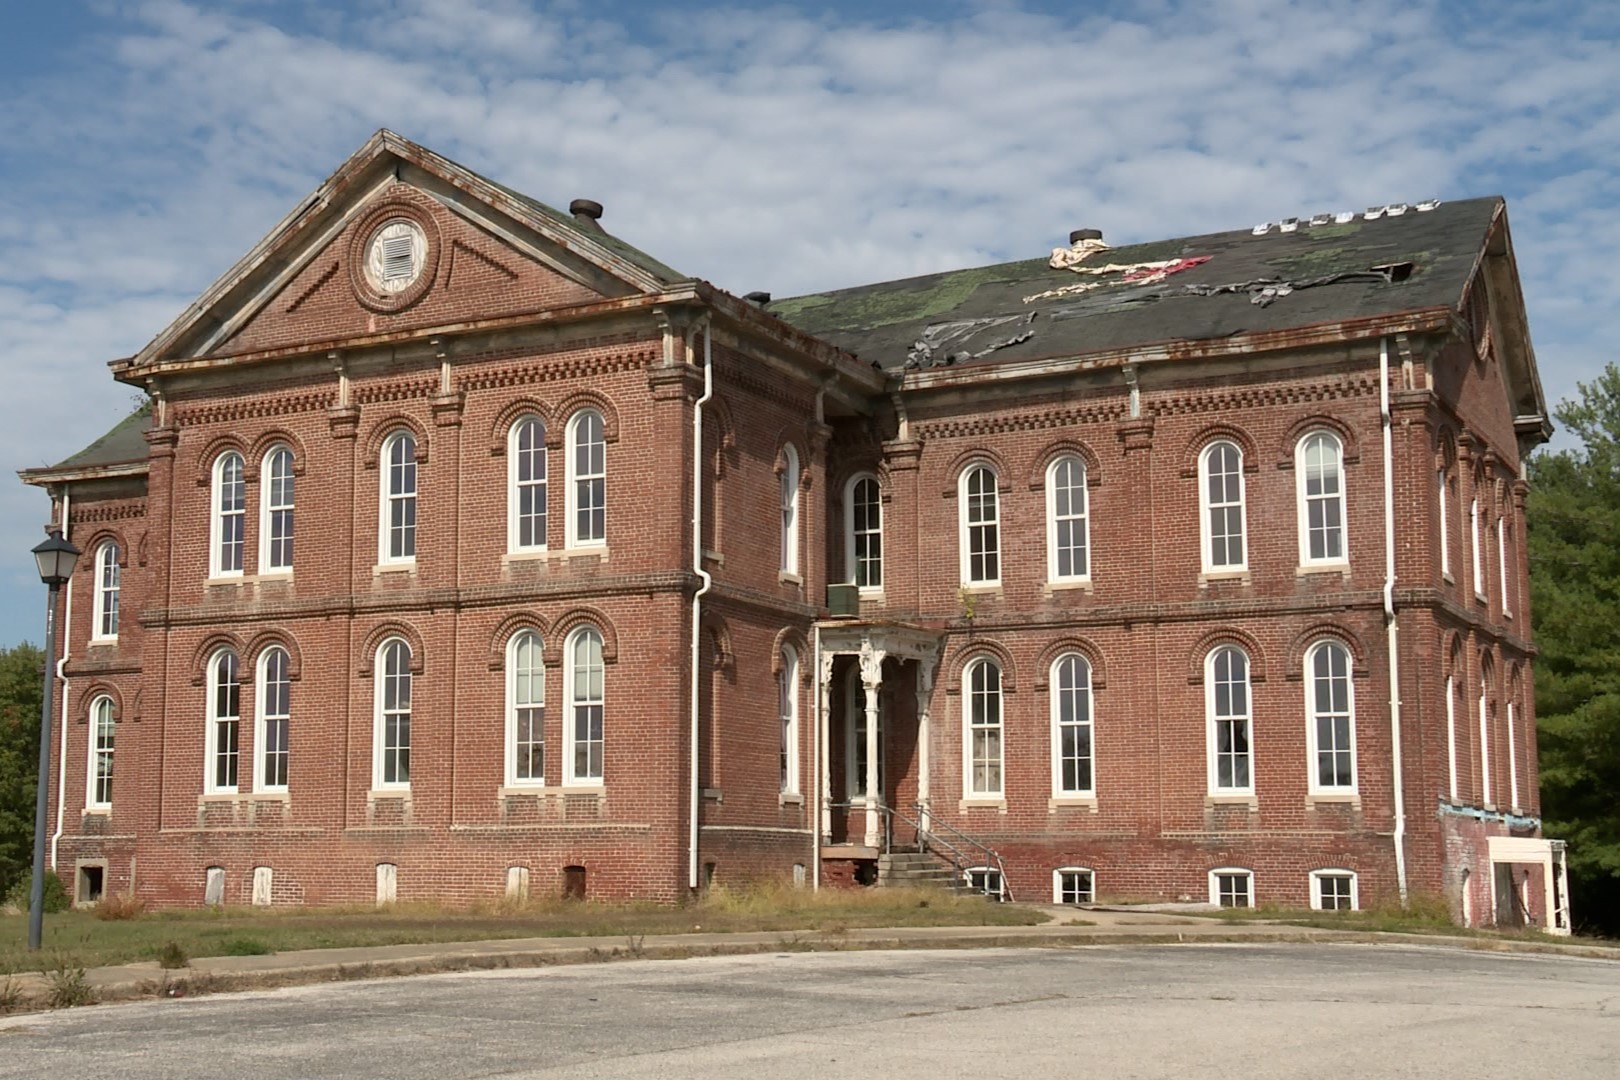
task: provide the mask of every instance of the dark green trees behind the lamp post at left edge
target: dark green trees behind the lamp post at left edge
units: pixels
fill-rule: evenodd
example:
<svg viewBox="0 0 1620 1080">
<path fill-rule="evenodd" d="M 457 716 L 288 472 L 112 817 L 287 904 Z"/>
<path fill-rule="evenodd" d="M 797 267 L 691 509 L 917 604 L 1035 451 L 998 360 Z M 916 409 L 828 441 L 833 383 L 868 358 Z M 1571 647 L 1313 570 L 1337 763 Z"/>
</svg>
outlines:
<svg viewBox="0 0 1620 1080">
<path fill-rule="evenodd" d="M 39 771 L 39 704 L 44 649 L 0 649 L 0 897 L 34 860 L 34 774 Z"/>
</svg>

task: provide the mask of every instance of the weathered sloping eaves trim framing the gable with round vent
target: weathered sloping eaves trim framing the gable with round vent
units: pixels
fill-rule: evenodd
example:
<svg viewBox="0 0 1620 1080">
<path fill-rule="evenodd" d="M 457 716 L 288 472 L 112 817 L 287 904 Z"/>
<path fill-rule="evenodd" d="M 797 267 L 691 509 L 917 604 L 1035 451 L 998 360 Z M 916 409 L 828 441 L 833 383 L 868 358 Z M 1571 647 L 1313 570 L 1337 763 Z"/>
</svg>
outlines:
<svg viewBox="0 0 1620 1080">
<path fill-rule="evenodd" d="M 418 170 L 418 172 L 413 172 Z M 327 176 L 309 198 L 282 219 L 264 240 L 230 267 L 162 334 L 126 361 L 115 361 L 120 379 L 139 381 L 141 369 L 164 359 L 201 356 L 230 337 L 267 304 L 277 290 L 337 236 L 368 196 L 392 178 L 421 180 L 462 209 L 497 215 L 530 230 L 554 248 L 556 257 L 531 251 L 552 269 L 595 287 L 612 282 L 612 295 L 656 295 L 688 282 L 645 251 L 599 228 L 582 227 L 572 215 L 475 173 L 389 130 L 379 130 Z"/>
</svg>

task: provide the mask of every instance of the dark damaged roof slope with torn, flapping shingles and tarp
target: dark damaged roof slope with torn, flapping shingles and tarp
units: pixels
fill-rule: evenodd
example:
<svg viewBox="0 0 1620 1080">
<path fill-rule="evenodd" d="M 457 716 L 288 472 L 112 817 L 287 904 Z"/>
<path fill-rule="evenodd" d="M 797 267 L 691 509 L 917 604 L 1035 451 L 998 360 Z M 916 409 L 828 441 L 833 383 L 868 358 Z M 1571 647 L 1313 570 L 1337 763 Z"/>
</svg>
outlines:
<svg viewBox="0 0 1620 1080">
<path fill-rule="evenodd" d="M 1424 209 L 1419 209 L 1424 207 Z M 1430 209 L 1432 207 L 1432 209 Z M 1076 356 L 1461 304 L 1500 198 L 1319 215 L 779 300 L 886 371 Z M 1348 220 L 1346 220 L 1348 219 Z M 1315 223 L 1312 223 L 1315 222 Z"/>
</svg>

